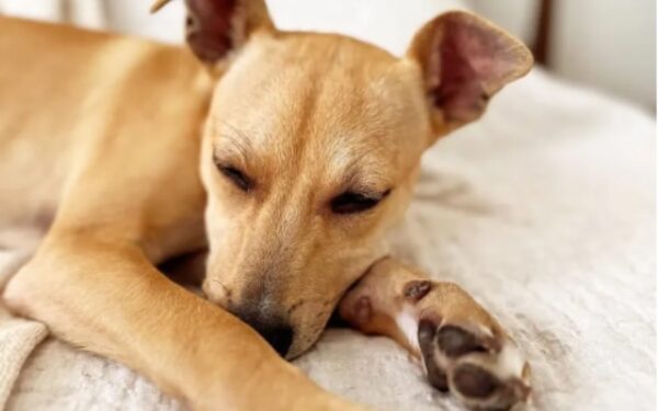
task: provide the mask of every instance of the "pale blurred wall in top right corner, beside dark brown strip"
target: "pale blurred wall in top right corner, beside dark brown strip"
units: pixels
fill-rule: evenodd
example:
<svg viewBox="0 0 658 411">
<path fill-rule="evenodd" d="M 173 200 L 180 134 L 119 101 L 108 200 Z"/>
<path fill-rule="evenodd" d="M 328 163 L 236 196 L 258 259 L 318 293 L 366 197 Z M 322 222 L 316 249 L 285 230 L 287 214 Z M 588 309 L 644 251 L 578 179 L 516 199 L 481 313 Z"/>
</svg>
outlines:
<svg viewBox="0 0 658 411">
<path fill-rule="evenodd" d="M 555 7 L 555 71 L 654 110 L 656 1 L 556 0 Z"/>
</svg>

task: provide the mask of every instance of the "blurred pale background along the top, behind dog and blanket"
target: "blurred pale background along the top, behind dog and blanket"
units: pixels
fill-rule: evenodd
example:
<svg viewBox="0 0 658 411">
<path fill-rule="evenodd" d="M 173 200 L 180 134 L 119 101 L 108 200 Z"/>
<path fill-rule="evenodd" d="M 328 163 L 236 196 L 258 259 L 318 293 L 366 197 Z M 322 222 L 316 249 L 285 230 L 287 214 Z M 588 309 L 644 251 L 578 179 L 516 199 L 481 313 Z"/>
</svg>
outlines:
<svg viewBox="0 0 658 411">
<path fill-rule="evenodd" d="M 654 0 L 268 0 L 282 28 L 352 34 L 393 53 L 450 9 L 468 9 L 522 38 L 557 76 L 655 113 Z M 179 43 L 183 1 L 155 16 L 149 0 L 0 0 L 0 12 Z M 409 9 L 418 9 L 409 12 Z"/>
</svg>

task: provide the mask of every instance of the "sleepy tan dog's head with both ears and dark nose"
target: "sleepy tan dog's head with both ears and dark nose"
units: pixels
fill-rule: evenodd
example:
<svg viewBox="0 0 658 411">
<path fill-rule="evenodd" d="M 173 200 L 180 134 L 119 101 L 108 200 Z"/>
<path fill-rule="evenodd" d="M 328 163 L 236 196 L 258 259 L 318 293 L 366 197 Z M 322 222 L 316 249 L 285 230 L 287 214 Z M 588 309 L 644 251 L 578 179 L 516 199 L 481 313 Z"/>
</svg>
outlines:
<svg viewBox="0 0 658 411">
<path fill-rule="evenodd" d="M 201 160 L 204 290 L 295 356 L 382 256 L 423 150 L 478 118 L 532 58 L 464 12 L 429 22 L 396 58 L 276 31 L 262 0 L 186 3 L 188 43 L 217 78 Z"/>
</svg>

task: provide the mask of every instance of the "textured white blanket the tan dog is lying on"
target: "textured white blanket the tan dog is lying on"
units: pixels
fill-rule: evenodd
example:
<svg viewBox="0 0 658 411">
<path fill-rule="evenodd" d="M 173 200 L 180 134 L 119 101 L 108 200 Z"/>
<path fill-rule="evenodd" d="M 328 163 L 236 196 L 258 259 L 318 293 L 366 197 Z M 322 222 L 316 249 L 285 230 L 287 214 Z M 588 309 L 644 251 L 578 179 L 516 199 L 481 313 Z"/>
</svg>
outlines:
<svg viewBox="0 0 658 411">
<path fill-rule="evenodd" d="M 655 133 L 645 113 L 535 71 L 424 158 L 396 250 L 462 284 L 511 330 L 533 366 L 532 409 L 655 409 Z M 5 341 L 18 335 L 7 327 L 18 323 L 0 321 L 1 401 L 12 377 Z M 35 328 L 31 341 L 43 335 L 42 326 L 21 327 Z M 383 338 L 331 330 L 296 364 L 381 409 L 458 409 Z M 48 339 L 8 409 L 182 406 L 118 364 Z"/>
</svg>

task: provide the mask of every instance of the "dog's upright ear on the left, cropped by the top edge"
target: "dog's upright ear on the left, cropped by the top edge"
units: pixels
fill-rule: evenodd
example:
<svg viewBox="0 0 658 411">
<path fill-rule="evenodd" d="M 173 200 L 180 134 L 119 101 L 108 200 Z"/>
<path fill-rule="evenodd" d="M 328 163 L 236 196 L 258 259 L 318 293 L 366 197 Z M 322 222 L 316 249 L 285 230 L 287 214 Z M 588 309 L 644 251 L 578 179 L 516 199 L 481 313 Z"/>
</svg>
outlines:
<svg viewBox="0 0 658 411">
<path fill-rule="evenodd" d="M 151 12 L 171 0 L 157 0 Z M 264 0 L 185 0 L 185 39 L 211 67 L 225 60 L 259 31 L 274 31 Z"/>
</svg>

